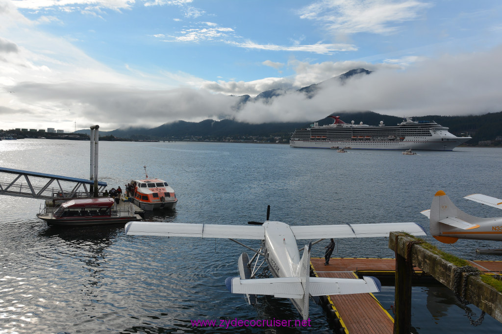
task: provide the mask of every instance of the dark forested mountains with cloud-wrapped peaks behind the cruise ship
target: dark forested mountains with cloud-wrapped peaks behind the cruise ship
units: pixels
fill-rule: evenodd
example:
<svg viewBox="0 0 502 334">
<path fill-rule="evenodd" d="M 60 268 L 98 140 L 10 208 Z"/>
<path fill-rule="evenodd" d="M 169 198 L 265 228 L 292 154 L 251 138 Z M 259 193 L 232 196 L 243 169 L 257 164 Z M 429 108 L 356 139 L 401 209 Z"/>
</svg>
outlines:
<svg viewBox="0 0 502 334">
<path fill-rule="evenodd" d="M 312 98 L 323 87 L 331 83 L 345 84 L 345 81 L 354 76 L 369 75 L 372 71 L 363 68 L 353 69 L 339 76 L 312 84 L 297 90 Z M 247 102 L 262 101 L 271 103 L 274 98 L 289 94 L 283 89 L 271 89 L 258 94 L 252 98 L 249 95 L 239 96 L 234 105 L 235 110 L 241 109 Z M 363 122 L 368 125 L 384 124 L 395 125 L 403 119 L 401 117 L 381 115 L 372 111 L 340 111 L 334 114 L 350 123 Z M 414 117 L 414 120 L 433 120 L 437 123 L 449 127 L 450 132 L 456 135 L 471 135 L 470 142 L 477 143 L 480 140 L 493 140 L 502 135 L 502 112 L 489 113 L 477 116 L 438 116 L 430 115 L 423 117 Z M 315 120 L 312 120 L 312 122 Z M 331 124 L 332 118 L 326 117 L 317 120 L 320 125 Z M 128 138 L 131 140 L 211 140 L 211 141 L 270 141 L 270 142 L 288 142 L 289 137 L 297 128 L 308 127 L 311 122 L 275 122 L 262 124 L 249 124 L 237 122 L 230 119 L 215 121 L 206 119 L 201 122 L 176 121 L 166 123 L 154 128 L 147 127 L 128 127 L 119 128 L 113 131 L 100 131 L 101 136 Z M 89 134 L 90 130 L 79 130 L 78 133 Z"/>
</svg>

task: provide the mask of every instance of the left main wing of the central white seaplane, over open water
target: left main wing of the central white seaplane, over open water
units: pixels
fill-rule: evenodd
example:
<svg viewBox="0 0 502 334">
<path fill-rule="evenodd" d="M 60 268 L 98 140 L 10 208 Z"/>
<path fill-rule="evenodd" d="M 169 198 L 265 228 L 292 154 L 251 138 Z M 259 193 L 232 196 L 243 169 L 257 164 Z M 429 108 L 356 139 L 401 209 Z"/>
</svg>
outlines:
<svg viewBox="0 0 502 334">
<path fill-rule="evenodd" d="M 126 224 L 126 234 L 162 237 L 265 239 L 265 229 L 259 225 L 129 222 Z"/>
</svg>

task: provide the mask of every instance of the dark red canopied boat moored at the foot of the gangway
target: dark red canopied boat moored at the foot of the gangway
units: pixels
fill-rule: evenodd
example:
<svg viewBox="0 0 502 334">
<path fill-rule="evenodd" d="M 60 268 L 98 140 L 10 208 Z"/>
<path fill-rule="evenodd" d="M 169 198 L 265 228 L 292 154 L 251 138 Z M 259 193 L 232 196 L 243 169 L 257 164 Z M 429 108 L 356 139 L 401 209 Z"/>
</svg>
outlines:
<svg viewBox="0 0 502 334">
<path fill-rule="evenodd" d="M 131 203 L 118 208 L 115 201 L 108 197 L 75 199 L 57 207 L 48 207 L 46 202 L 37 217 L 49 226 L 125 224 L 132 220 L 142 220 L 141 216 L 134 213 Z"/>
</svg>

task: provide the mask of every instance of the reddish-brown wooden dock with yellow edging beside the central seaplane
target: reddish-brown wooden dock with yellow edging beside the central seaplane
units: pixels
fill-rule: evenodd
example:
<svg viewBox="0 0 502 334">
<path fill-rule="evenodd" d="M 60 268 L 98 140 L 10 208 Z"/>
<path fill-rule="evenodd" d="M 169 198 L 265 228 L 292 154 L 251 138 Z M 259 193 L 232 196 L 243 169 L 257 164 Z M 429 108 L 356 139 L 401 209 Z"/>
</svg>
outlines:
<svg viewBox="0 0 502 334">
<path fill-rule="evenodd" d="M 331 258 L 324 265 L 324 258 L 311 258 L 311 268 L 317 277 L 361 278 L 364 276 L 394 279 L 395 259 L 378 258 Z M 473 267 L 486 274 L 502 271 L 502 261 L 469 261 Z M 422 269 L 413 268 L 416 277 L 424 277 Z M 429 279 L 432 277 L 429 276 Z M 329 295 L 327 308 L 334 313 L 335 327 L 340 333 L 393 333 L 394 318 L 372 293 Z M 328 313 L 329 315 L 329 313 Z"/>
</svg>

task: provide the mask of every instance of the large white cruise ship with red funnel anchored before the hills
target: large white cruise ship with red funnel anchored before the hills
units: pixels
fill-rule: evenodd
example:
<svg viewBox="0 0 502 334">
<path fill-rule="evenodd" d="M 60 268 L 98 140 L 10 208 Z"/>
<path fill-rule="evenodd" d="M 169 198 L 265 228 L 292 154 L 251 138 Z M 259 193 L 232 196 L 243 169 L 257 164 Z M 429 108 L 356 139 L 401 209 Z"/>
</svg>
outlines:
<svg viewBox="0 0 502 334">
<path fill-rule="evenodd" d="M 339 116 L 329 116 L 333 124 L 296 130 L 290 139 L 292 147 L 352 148 L 352 149 L 413 149 L 451 151 L 471 137 L 457 137 L 448 128 L 434 121 L 413 121 L 405 118 L 396 126 L 383 121 L 371 126 L 360 122 L 345 123 Z"/>
</svg>

